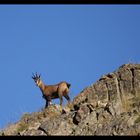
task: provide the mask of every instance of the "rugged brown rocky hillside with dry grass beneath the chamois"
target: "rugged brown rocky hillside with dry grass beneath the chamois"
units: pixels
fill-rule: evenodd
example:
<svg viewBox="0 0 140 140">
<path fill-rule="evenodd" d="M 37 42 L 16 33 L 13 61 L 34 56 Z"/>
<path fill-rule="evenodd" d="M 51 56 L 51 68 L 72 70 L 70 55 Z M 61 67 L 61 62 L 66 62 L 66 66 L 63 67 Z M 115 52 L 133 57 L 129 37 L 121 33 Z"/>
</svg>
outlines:
<svg viewBox="0 0 140 140">
<path fill-rule="evenodd" d="M 140 135 L 140 64 L 125 64 L 65 107 L 25 114 L 0 135 Z"/>
</svg>

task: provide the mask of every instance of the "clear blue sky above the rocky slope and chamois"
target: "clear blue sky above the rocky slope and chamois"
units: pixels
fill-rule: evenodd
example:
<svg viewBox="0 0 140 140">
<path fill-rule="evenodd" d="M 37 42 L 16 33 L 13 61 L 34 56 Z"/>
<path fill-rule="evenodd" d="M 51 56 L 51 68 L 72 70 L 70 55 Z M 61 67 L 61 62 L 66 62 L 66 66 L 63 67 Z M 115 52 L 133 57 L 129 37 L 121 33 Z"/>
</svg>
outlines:
<svg viewBox="0 0 140 140">
<path fill-rule="evenodd" d="M 140 63 L 140 5 L 0 5 L 0 128 L 44 107 L 32 72 L 71 83 L 73 100 L 129 62 Z"/>
</svg>

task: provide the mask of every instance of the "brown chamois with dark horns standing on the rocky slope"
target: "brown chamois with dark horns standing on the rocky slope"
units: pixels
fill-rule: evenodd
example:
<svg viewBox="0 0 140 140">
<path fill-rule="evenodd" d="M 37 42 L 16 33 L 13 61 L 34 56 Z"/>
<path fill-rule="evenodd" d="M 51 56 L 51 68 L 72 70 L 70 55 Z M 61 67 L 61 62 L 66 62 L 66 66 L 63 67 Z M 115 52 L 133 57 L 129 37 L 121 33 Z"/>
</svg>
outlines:
<svg viewBox="0 0 140 140">
<path fill-rule="evenodd" d="M 40 79 L 40 75 L 34 75 L 32 76 L 33 80 L 36 83 L 36 86 L 38 86 L 42 92 L 42 97 L 46 100 L 45 108 L 48 107 L 48 105 L 51 105 L 52 99 L 59 98 L 60 99 L 60 105 L 63 104 L 63 96 L 67 99 L 68 103 L 70 103 L 70 97 L 69 97 L 69 88 L 71 84 L 67 83 L 66 81 L 62 81 L 55 85 L 46 85 L 42 82 Z"/>
</svg>

